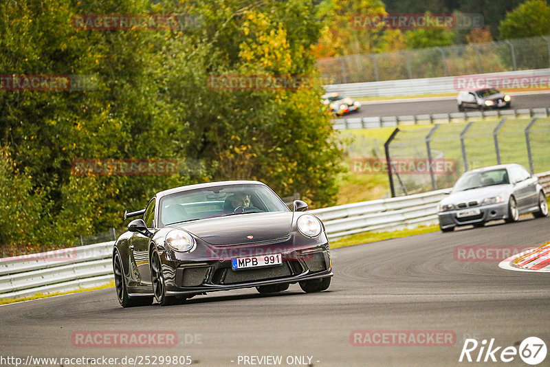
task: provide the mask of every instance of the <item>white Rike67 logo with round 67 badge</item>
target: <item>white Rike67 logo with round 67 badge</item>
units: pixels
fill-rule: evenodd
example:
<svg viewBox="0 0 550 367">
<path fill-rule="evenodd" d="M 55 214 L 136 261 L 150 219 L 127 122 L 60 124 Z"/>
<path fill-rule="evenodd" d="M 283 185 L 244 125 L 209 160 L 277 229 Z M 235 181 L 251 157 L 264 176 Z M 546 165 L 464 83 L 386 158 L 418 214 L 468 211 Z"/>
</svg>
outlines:
<svg viewBox="0 0 550 367">
<path fill-rule="evenodd" d="M 518 348 L 516 346 L 496 346 L 494 338 L 479 343 L 475 339 L 466 339 L 460 353 L 459 362 L 503 362 L 513 361 L 517 356 L 526 364 L 534 366 L 544 361 L 547 355 L 546 344 L 539 337 L 526 337 Z"/>
</svg>

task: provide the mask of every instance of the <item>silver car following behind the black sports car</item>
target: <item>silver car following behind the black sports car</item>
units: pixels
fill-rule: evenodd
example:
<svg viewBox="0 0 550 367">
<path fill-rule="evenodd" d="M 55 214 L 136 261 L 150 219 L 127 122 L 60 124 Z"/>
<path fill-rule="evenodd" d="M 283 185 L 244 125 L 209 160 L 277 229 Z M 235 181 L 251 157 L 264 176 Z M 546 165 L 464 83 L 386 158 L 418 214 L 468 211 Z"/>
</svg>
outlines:
<svg viewBox="0 0 550 367">
<path fill-rule="evenodd" d="M 515 222 L 522 214 L 548 215 L 538 178 L 519 164 L 501 164 L 464 173 L 439 202 L 439 227 L 450 232 L 459 225 L 482 227 L 487 221 Z"/>
</svg>

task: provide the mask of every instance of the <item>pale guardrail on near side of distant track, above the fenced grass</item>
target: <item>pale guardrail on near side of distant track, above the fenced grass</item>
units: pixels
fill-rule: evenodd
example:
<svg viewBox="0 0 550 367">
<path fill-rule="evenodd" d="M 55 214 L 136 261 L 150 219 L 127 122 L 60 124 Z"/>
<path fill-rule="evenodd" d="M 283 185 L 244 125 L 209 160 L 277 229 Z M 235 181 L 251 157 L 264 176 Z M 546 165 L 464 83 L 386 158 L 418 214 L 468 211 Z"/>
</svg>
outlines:
<svg viewBox="0 0 550 367">
<path fill-rule="evenodd" d="M 375 129 L 386 126 L 403 126 L 419 124 L 441 124 L 450 122 L 467 122 L 472 118 L 529 117 L 547 118 L 550 107 L 538 109 L 505 109 L 490 111 L 468 111 L 452 113 L 432 113 L 429 115 L 377 116 L 368 118 L 341 118 L 333 120 L 335 130 Z"/>
</svg>

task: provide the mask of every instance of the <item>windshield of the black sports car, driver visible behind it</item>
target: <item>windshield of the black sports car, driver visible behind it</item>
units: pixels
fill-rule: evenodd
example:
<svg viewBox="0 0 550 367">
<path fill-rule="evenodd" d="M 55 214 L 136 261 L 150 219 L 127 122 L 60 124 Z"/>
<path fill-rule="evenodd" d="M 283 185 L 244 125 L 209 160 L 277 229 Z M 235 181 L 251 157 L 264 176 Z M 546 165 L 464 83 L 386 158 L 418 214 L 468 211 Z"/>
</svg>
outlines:
<svg viewBox="0 0 550 367">
<path fill-rule="evenodd" d="M 259 184 L 213 186 L 177 192 L 162 197 L 159 208 L 161 225 L 215 216 L 289 211 L 270 188 Z"/>
</svg>

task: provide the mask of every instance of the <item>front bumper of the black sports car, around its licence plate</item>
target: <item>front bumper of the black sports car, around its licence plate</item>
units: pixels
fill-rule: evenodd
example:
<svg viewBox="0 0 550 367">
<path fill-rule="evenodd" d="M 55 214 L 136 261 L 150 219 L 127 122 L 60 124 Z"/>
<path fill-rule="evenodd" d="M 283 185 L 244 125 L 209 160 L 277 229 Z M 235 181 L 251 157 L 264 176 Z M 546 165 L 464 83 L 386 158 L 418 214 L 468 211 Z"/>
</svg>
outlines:
<svg viewBox="0 0 550 367">
<path fill-rule="evenodd" d="M 307 249 L 289 249 L 282 264 L 232 269 L 232 256 L 217 259 L 172 260 L 163 265 L 166 293 L 170 296 L 258 287 L 333 276 L 328 243 Z M 267 253 L 266 253 L 267 255 Z M 163 256 L 162 256 L 163 257 Z"/>
</svg>

